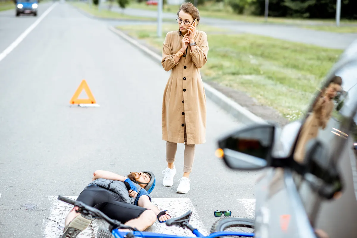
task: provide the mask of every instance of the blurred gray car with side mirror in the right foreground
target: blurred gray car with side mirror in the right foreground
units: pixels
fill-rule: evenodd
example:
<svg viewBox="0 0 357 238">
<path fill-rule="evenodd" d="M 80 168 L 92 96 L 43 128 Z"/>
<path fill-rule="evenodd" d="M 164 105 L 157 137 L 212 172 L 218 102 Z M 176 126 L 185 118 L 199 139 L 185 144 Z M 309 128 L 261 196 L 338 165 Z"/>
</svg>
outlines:
<svg viewBox="0 0 357 238">
<path fill-rule="evenodd" d="M 218 141 L 231 169 L 258 170 L 255 237 L 357 237 L 357 40 L 301 120 L 249 125 Z"/>
</svg>

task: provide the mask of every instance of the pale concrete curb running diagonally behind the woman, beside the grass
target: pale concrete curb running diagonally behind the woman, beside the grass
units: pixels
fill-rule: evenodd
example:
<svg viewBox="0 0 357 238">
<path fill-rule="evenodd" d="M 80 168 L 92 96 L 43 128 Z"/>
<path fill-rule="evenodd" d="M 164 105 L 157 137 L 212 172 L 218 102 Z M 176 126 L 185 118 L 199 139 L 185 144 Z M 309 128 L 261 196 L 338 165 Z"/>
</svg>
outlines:
<svg viewBox="0 0 357 238">
<path fill-rule="evenodd" d="M 155 61 L 159 61 L 161 63 L 162 57 L 150 50 L 146 46 L 141 45 L 132 37 L 126 35 L 124 32 L 116 29 L 112 26 L 109 26 L 109 29 L 129 41 L 132 45 L 136 46 L 140 50 L 144 51 L 147 55 L 152 57 Z M 234 102 L 232 99 L 228 98 L 226 95 L 218 91 L 217 89 L 211 87 L 207 83 L 203 82 L 203 86 L 205 87 L 206 97 L 215 102 L 218 106 L 220 106 L 223 110 L 225 110 L 228 114 L 232 115 L 234 118 L 241 121 L 243 124 L 251 124 L 251 123 L 264 123 L 265 120 L 251 113 L 246 108 L 243 108 L 238 103 Z"/>
</svg>

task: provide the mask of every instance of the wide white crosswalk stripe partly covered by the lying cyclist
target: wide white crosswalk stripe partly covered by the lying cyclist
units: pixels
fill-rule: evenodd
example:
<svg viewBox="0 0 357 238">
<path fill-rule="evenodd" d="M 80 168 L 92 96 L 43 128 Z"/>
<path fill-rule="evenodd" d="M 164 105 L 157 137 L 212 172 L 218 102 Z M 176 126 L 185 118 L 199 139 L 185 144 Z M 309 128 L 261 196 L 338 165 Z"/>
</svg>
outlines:
<svg viewBox="0 0 357 238">
<path fill-rule="evenodd" d="M 67 196 L 72 199 L 76 199 L 75 196 Z M 64 222 L 66 215 L 71 211 L 72 205 L 68 203 L 57 200 L 56 196 L 50 196 L 49 199 L 52 202 L 52 207 L 50 208 L 49 217 L 44 218 L 42 223 L 42 234 L 45 238 L 58 238 L 63 233 Z M 190 224 L 197 228 L 205 236 L 208 232 L 203 225 L 200 217 L 197 214 L 195 207 L 193 206 L 190 198 L 152 198 L 152 203 L 156 205 L 160 211 L 167 210 L 170 212 L 172 217 L 178 217 L 185 214 L 188 210 L 192 211 L 192 216 L 190 219 Z M 78 238 L 96 237 L 99 227 L 107 228 L 108 224 L 101 219 L 92 219 L 91 224 L 87 229 L 77 236 Z M 191 231 L 188 229 L 182 229 L 179 227 L 168 227 L 165 223 L 155 222 L 146 231 L 156 232 L 156 233 L 166 233 L 166 234 L 176 234 L 182 236 L 195 237 Z"/>
</svg>

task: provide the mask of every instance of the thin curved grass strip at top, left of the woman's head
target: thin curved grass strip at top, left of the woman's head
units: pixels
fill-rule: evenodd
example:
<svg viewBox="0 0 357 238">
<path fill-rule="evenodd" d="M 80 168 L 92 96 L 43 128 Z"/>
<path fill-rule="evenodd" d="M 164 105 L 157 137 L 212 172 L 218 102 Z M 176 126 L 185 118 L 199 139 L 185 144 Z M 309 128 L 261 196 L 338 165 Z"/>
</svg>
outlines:
<svg viewBox="0 0 357 238">
<path fill-rule="evenodd" d="M 130 16 L 126 14 L 121 14 L 119 12 L 110 11 L 107 9 L 98 9 L 95 5 L 89 5 L 88 3 L 84 2 L 69 2 L 75 7 L 93 15 L 96 17 L 101 18 L 110 18 L 110 19 L 127 19 L 127 20 L 146 20 L 146 21 L 155 21 L 155 18 L 150 17 L 140 17 L 140 16 Z"/>
</svg>

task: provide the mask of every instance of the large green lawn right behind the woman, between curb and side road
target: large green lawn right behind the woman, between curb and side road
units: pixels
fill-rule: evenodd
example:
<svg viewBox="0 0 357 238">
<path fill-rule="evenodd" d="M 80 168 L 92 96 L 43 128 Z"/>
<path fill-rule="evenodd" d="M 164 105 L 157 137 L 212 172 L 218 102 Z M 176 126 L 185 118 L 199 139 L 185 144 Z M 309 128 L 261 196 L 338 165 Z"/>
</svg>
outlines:
<svg viewBox="0 0 357 238">
<path fill-rule="evenodd" d="M 118 26 L 160 52 L 167 31 L 176 27 L 164 24 L 162 37 L 157 38 L 155 25 Z M 246 92 L 289 120 L 306 110 L 316 87 L 342 53 L 270 37 L 225 34 L 202 25 L 200 30 L 207 33 L 210 46 L 208 62 L 201 68 L 204 80 Z"/>
</svg>

